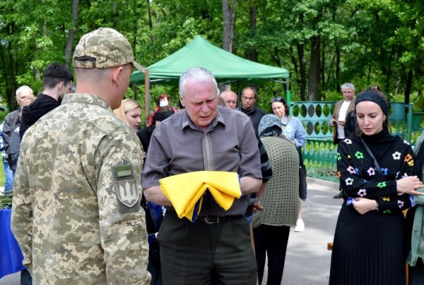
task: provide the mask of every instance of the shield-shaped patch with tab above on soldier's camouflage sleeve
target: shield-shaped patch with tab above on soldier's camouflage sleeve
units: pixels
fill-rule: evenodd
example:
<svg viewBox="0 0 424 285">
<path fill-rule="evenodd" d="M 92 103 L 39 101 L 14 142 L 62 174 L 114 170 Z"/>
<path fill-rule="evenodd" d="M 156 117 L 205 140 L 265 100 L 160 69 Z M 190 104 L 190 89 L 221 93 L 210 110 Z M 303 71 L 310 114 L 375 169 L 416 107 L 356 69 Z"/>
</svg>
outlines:
<svg viewBox="0 0 424 285">
<path fill-rule="evenodd" d="M 133 207 L 139 201 L 136 179 L 134 178 L 132 166 L 129 164 L 115 166 L 113 168 L 116 195 L 123 205 Z"/>
</svg>

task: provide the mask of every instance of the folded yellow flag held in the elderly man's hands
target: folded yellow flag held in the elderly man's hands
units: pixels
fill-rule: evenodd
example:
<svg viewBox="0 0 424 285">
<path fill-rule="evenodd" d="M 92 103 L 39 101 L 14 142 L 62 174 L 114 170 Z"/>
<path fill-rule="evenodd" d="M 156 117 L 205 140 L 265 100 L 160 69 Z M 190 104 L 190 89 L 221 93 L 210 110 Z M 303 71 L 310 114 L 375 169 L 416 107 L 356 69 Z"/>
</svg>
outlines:
<svg viewBox="0 0 424 285">
<path fill-rule="evenodd" d="M 202 196 L 206 190 L 224 210 L 230 209 L 234 198 L 242 195 L 236 172 L 194 171 L 162 178 L 159 183 L 178 217 L 187 217 L 192 222 L 201 210 Z"/>
</svg>

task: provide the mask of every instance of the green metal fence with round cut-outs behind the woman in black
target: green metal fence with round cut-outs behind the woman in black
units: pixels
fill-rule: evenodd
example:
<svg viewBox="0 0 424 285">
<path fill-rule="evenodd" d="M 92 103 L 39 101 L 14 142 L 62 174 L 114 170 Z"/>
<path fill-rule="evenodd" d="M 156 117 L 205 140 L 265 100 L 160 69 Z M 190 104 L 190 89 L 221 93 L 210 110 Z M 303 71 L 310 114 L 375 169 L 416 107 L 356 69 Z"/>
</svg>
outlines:
<svg viewBox="0 0 424 285">
<path fill-rule="evenodd" d="M 290 102 L 290 114 L 302 121 L 307 142 L 302 148 L 307 175 L 328 181 L 336 177 L 336 151 L 329 121 L 336 102 Z M 412 104 L 389 102 L 391 133 L 412 144 L 424 130 L 424 113 L 411 113 Z"/>
</svg>

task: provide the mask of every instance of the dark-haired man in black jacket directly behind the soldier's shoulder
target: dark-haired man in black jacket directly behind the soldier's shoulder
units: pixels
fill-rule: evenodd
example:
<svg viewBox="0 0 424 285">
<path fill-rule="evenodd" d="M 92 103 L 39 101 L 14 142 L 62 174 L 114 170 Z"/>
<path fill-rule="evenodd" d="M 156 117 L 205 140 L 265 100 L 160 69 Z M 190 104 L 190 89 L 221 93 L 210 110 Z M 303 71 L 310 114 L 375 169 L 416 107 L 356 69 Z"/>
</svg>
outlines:
<svg viewBox="0 0 424 285">
<path fill-rule="evenodd" d="M 42 116 L 60 106 L 65 94 L 71 93 L 73 75 L 71 71 L 59 63 L 51 63 L 42 73 L 44 90 L 37 99 L 22 109 L 19 135 L 22 139 L 25 131 L 33 126 Z"/>
</svg>

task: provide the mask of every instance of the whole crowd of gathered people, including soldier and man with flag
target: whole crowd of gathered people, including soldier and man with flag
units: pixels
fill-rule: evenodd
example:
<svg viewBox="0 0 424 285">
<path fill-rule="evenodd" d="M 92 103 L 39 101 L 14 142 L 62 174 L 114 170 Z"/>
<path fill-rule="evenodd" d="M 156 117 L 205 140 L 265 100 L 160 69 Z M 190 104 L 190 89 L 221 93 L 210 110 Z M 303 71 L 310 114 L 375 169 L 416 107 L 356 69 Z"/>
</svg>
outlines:
<svg viewBox="0 0 424 285">
<path fill-rule="evenodd" d="M 2 123 L 21 284 L 261 284 L 266 257 L 267 284 L 281 284 L 306 198 L 307 133 L 285 99 L 267 114 L 247 86 L 237 107 L 211 71 L 189 68 L 179 109 L 163 93 L 143 128 L 141 104 L 124 99 L 143 67 L 123 35 L 84 35 L 73 68 L 75 88 L 59 63 L 37 98 L 18 88 Z M 405 284 L 406 260 L 422 284 L 424 133 L 414 153 L 390 134 L 381 90 L 341 90 L 329 121 L 342 199 L 329 284 Z"/>
</svg>

